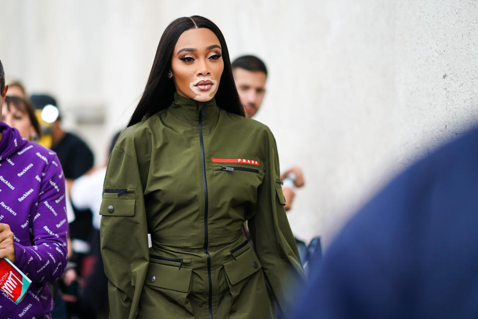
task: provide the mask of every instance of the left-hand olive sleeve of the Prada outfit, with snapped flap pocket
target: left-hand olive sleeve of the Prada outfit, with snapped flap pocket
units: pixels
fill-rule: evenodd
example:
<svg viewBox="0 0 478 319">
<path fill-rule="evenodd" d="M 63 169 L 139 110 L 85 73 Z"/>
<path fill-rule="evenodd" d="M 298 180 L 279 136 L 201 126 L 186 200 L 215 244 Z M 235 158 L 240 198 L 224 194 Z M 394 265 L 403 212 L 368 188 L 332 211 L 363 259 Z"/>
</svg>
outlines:
<svg viewBox="0 0 478 319">
<path fill-rule="evenodd" d="M 149 250 L 141 164 L 133 141 L 119 139 L 108 163 L 100 208 L 101 253 L 110 318 L 136 318 Z M 127 190 L 127 192 L 126 192 Z"/>
</svg>

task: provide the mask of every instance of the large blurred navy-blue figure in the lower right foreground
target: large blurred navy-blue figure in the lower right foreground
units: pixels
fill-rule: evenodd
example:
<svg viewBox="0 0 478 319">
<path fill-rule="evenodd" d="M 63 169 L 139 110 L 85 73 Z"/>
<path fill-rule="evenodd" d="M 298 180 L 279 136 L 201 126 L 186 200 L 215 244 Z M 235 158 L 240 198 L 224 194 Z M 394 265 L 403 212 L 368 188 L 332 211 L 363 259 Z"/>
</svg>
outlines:
<svg viewBox="0 0 478 319">
<path fill-rule="evenodd" d="M 393 179 L 343 228 L 289 318 L 478 318 L 478 129 Z"/>
</svg>

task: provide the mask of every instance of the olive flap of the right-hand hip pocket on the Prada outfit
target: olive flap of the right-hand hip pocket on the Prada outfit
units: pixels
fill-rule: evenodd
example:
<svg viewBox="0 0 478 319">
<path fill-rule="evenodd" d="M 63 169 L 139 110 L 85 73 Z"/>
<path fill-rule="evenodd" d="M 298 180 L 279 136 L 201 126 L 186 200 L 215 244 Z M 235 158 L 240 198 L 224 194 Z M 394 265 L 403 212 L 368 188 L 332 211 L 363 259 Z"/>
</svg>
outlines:
<svg viewBox="0 0 478 319">
<path fill-rule="evenodd" d="M 262 268 L 259 259 L 252 248 L 247 249 L 242 254 L 224 264 L 224 269 L 228 275 L 231 284 L 236 285 L 241 280 L 249 277 Z"/>
</svg>

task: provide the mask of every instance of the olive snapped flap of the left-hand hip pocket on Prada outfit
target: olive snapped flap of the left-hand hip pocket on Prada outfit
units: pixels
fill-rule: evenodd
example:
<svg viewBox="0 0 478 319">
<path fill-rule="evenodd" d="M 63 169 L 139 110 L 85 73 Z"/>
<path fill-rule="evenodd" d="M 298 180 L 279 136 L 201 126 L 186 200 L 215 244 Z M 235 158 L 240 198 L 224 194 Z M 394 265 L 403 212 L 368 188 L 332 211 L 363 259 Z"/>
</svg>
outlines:
<svg viewBox="0 0 478 319">
<path fill-rule="evenodd" d="M 145 285 L 175 290 L 183 293 L 189 291 L 191 269 L 163 264 L 149 263 Z"/>
</svg>

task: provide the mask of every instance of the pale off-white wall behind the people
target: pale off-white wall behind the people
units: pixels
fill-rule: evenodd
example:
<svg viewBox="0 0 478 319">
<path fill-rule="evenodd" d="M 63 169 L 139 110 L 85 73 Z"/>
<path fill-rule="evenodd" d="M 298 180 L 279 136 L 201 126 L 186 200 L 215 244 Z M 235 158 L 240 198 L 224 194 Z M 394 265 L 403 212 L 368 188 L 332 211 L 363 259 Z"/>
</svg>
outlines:
<svg viewBox="0 0 478 319">
<path fill-rule="evenodd" d="M 256 120 L 306 186 L 297 237 L 333 234 L 389 178 L 478 120 L 476 0 L 0 0 L 0 59 L 29 94 L 54 95 L 96 163 L 146 83 L 159 38 L 194 14 L 232 58 L 268 66 Z M 384 212 L 386 213 L 386 212 Z M 371 230 L 373 231 L 373 230 Z"/>
</svg>

